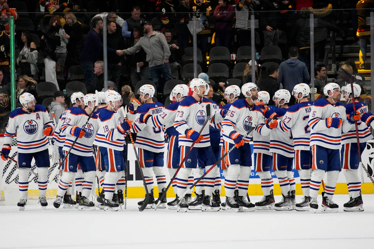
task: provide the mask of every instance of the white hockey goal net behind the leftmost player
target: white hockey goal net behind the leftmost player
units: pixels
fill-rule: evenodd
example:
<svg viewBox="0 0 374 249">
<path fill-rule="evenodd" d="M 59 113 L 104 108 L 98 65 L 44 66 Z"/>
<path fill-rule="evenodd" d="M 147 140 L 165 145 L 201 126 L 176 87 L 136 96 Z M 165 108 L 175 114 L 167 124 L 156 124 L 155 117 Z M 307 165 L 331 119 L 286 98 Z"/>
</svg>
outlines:
<svg viewBox="0 0 374 249">
<path fill-rule="evenodd" d="M 0 137 L 1 145 L 3 144 L 3 137 Z M 51 142 L 52 137 L 48 138 L 49 142 Z M 18 149 L 17 149 L 17 142 L 16 139 L 12 141 L 10 144 L 12 147 L 9 153 L 9 157 L 12 157 L 17 161 L 18 159 Z M 52 146 L 52 145 L 51 145 Z M 52 148 L 49 146 L 49 162 L 50 167 L 48 169 L 48 186 L 47 186 L 47 194 L 46 198 L 52 199 L 56 197 L 57 194 L 57 186 L 59 180 L 58 174 L 58 166 L 59 161 L 52 162 Z M 0 159 L 1 160 L 1 159 Z M 31 162 L 31 171 L 37 173 L 35 160 Z M 18 167 L 15 162 L 8 159 L 7 161 L 1 160 L 0 162 L 0 172 L 1 172 L 1 184 L 0 184 L 0 200 L 5 200 L 6 198 L 18 198 L 19 194 L 18 191 Z M 28 199 L 38 199 L 39 197 L 39 189 L 38 189 L 38 175 L 29 173 L 29 185 L 28 185 Z M 14 194 L 17 196 L 6 196 L 7 194 Z"/>
</svg>

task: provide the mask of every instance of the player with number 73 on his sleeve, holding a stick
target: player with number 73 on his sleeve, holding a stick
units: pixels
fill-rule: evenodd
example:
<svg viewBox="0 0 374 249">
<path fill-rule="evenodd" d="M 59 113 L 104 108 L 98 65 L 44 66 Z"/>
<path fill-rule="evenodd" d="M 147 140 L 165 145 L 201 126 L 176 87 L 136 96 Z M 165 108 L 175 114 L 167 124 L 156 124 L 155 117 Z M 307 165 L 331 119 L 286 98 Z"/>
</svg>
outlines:
<svg viewBox="0 0 374 249">
<path fill-rule="evenodd" d="M 205 125 L 200 134 L 198 132 L 207 119 L 206 107 L 209 106 L 211 113 L 210 125 L 218 128 L 222 121 L 217 104 L 203 97 L 205 91 L 209 89 L 208 84 L 204 80 L 196 78 L 190 82 L 190 88 L 193 94 L 180 103 L 174 122 L 174 127 L 179 132 L 178 142 L 181 149 L 181 160 L 186 156 L 193 141 L 196 142 L 177 174 L 178 196 L 180 196 L 178 212 L 186 212 L 188 209 L 186 199 L 181 195 L 187 188 L 188 175 L 190 175 L 191 169 L 196 168 L 198 162 L 199 167 L 204 166 L 205 169 L 210 168 L 215 163 L 215 156 L 210 146 L 209 125 Z M 215 167 L 204 178 L 205 193 L 202 199 L 202 211 L 219 211 L 220 209 L 220 205 L 211 197 L 217 170 L 218 168 Z"/>
</svg>

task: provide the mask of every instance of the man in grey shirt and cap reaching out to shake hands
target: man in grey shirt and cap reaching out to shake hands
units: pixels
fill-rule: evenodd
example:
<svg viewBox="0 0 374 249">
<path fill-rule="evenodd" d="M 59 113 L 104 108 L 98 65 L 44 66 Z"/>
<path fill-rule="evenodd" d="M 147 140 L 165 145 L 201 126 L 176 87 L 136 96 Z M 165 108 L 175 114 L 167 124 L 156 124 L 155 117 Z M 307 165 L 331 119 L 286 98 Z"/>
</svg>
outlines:
<svg viewBox="0 0 374 249">
<path fill-rule="evenodd" d="M 147 53 L 148 77 L 156 84 L 157 92 L 162 94 L 163 83 L 171 80 L 171 69 L 169 57 L 171 55 L 165 36 L 160 32 L 153 30 L 153 23 L 146 21 L 144 23 L 144 36 L 139 39 L 137 44 L 123 50 L 125 55 L 132 55 L 140 49 Z M 161 82 L 161 76 L 165 82 Z"/>
</svg>

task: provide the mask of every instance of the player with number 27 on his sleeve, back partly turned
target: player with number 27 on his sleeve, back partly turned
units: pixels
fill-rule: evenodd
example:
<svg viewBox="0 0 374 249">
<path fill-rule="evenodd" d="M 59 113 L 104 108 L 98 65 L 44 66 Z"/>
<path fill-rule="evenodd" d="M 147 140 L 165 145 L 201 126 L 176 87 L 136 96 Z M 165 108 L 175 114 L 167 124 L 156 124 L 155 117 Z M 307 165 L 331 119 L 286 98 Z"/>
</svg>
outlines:
<svg viewBox="0 0 374 249">
<path fill-rule="evenodd" d="M 309 150 L 310 128 L 308 125 L 309 114 L 312 110 L 313 102 L 308 101 L 310 87 L 301 83 L 295 85 L 292 95 L 297 103 L 287 109 L 283 120 L 279 122 L 279 127 L 287 134 L 291 131 L 294 138 L 295 168 L 300 175 L 301 190 L 303 200 L 295 205 L 297 211 L 309 210 L 309 186 L 310 175 L 312 174 L 312 153 Z"/>
</svg>

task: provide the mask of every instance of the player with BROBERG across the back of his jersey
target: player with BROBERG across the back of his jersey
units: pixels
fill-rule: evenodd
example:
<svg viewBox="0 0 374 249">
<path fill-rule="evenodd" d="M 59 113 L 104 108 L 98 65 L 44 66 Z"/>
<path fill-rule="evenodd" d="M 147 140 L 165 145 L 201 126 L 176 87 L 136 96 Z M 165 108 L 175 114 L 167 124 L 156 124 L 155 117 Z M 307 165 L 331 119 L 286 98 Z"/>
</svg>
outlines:
<svg viewBox="0 0 374 249">
<path fill-rule="evenodd" d="M 163 113 L 164 106 L 162 103 L 153 102 L 152 98 L 155 93 L 153 85 L 142 85 L 139 88 L 140 101 L 142 105 L 139 106 L 134 113 L 128 113 L 128 118 L 134 120 L 131 132 L 137 133 L 135 146 L 138 147 L 138 155 L 140 159 L 140 166 L 142 167 L 145 182 L 147 183 L 150 200 L 146 209 L 154 208 L 153 196 L 153 174 L 156 176 L 157 186 L 159 189 L 159 198 L 161 198 L 163 191 L 166 190 L 166 175 L 163 171 L 163 153 L 165 147 L 165 137 L 163 127 L 153 127 L 140 122 L 139 116 L 141 114 L 159 115 Z M 134 109 L 130 103 L 129 109 Z M 144 200 L 138 202 L 138 206 L 142 206 Z M 160 208 L 166 208 L 166 197 L 159 200 Z"/>
</svg>

